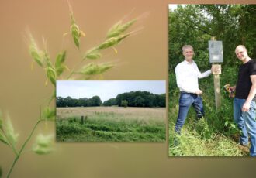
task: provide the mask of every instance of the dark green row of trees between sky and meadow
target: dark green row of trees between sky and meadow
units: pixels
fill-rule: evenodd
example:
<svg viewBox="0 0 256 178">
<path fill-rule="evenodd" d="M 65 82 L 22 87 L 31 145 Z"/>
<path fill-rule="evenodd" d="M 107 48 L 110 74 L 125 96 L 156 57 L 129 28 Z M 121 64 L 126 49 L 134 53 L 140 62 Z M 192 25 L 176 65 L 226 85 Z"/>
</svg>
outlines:
<svg viewBox="0 0 256 178">
<path fill-rule="evenodd" d="M 88 106 L 113 106 L 121 107 L 165 107 L 165 94 L 152 94 L 148 91 L 131 91 L 118 94 L 116 98 L 111 98 L 102 102 L 99 96 L 92 98 L 56 98 L 57 107 L 88 107 Z"/>
</svg>

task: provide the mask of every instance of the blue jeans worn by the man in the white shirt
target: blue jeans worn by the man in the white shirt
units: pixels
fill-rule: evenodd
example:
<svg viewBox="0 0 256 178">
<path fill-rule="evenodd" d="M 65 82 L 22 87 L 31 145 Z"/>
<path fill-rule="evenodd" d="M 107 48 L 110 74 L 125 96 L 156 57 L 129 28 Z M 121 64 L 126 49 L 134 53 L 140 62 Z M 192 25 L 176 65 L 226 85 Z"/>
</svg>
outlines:
<svg viewBox="0 0 256 178">
<path fill-rule="evenodd" d="M 197 94 L 189 94 L 182 91 L 179 98 L 178 118 L 175 125 L 175 132 L 181 132 L 191 105 L 195 109 L 198 118 L 202 118 L 202 116 L 204 116 L 202 98 Z"/>
</svg>

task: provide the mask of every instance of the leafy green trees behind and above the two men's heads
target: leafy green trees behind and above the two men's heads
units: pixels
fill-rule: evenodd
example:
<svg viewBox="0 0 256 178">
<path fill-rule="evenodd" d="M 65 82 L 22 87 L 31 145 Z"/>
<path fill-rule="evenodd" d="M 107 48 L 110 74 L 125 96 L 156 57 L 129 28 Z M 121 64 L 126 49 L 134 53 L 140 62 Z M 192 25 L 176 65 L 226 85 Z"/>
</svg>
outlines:
<svg viewBox="0 0 256 178">
<path fill-rule="evenodd" d="M 169 70 L 184 60 L 182 46 L 194 47 L 200 70 L 209 68 L 208 41 L 223 41 L 224 64 L 236 65 L 234 53 L 239 44 L 256 56 L 256 5 L 186 5 L 169 12 Z"/>
</svg>

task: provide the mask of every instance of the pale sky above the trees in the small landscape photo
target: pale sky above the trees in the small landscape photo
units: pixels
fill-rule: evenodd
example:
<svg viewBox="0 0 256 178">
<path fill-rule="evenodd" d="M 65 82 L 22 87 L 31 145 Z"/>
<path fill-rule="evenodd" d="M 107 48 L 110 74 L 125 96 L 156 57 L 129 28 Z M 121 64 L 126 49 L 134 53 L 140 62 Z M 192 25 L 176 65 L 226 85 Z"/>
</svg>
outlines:
<svg viewBox="0 0 256 178">
<path fill-rule="evenodd" d="M 92 98 L 97 95 L 106 101 L 130 91 L 165 94 L 165 88 L 165 80 L 57 80 L 56 94 L 63 98 Z"/>
</svg>

